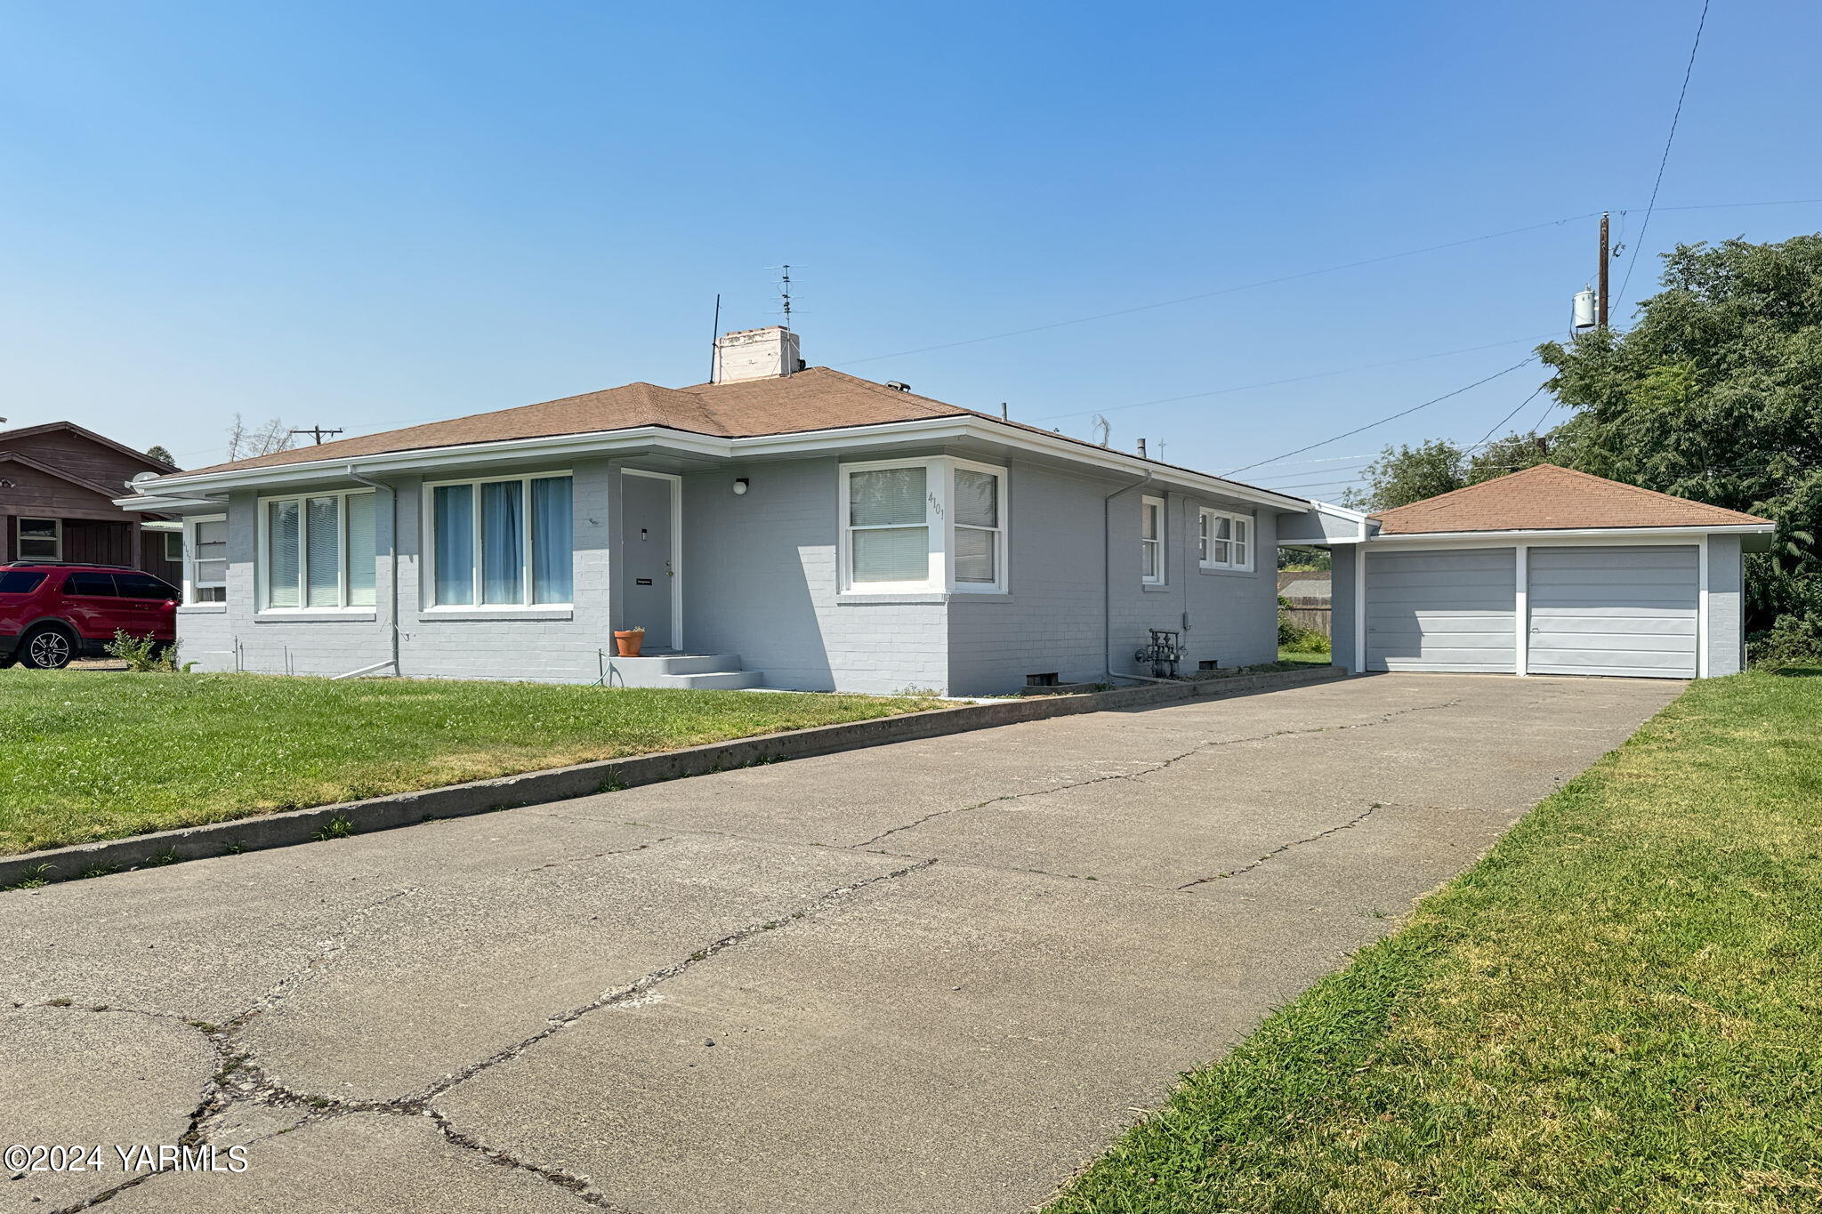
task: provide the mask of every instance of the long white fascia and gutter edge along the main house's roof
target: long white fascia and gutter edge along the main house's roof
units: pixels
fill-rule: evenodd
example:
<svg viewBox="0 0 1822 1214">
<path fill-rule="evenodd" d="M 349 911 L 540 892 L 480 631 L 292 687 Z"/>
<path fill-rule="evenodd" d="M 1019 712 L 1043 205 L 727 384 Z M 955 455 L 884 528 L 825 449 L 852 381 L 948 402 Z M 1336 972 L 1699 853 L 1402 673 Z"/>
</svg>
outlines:
<svg viewBox="0 0 1822 1214">
<path fill-rule="evenodd" d="M 665 453 L 689 455 L 696 459 L 738 459 L 742 455 L 789 457 L 834 453 L 856 442 L 878 442 L 880 439 L 904 439 L 916 442 L 942 442 L 951 439 L 977 439 L 1000 446 L 1055 455 L 1080 464 L 1111 468 L 1130 473 L 1152 473 L 1155 481 L 1179 484 L 1190 490 L 1217 493 L 1237 501 L 1270 506 L 1275 510 L 1303 511 L 1310 502 L 1286 493 L 1272 493 L 1250 484 L 1223 481 L 1184 468 L 1172 468 L 1126 455 L 1122 451 L 1084 450 L 1077 442 L 1057 437 L 1048 439 L 1013 426 L 1000 426 L 978 417 L 933 417 L 911 422 L 885 422 L 880 426 L 844 426 L 838 430 L 813 430 L 791 435 L 754 435 L 749 439 L 722 439 L 700 435 L 669 426 L 638 426 L 632 430 L 599 430 L 583 435 L 552 435 L 545 439 L 508 439 L 503 442 L 472 442 L 446 448 L 419 448 L 414 451 L 384 451 L 377 455 L 343 455 L 341 459 L 302 460 L 297 464 L 279 464 L 271 468 L 241 468 L 202 475 L 169 475 L 142 482 L 146 495 L 126 499 L 137 510 L 157 510 L 148 504 L 153 495 L 182 491 L 220 491 L 233 488 L 279 488 L 310 481 L 346 477 L 350 470 L 363 475 L 381 475 L 386 471 L 446 471 L 470 464 L 486 464 L 503 459 L 550 457 L 576 459 L 585 455 L 612 455 L 629 448 L 658 448 Z M 175 497 L 175 495 L 173 495 Z M 122 502 L 124 504 L 124 502 Z"/>
</svg>

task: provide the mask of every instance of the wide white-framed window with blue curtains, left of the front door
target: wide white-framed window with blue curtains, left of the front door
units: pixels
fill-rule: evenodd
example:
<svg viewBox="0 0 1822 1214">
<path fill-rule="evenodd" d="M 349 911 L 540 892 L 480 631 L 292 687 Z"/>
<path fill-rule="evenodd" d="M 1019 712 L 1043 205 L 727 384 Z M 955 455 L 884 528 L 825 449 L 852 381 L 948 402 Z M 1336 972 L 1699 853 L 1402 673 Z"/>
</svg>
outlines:
<svg viewBox="0 0 1822 1214">
<path fill-rule="evenodd" d="M 568 473 L 425 486 L 428 606 L 567 606 L 572 486 Z"/>
</svg>

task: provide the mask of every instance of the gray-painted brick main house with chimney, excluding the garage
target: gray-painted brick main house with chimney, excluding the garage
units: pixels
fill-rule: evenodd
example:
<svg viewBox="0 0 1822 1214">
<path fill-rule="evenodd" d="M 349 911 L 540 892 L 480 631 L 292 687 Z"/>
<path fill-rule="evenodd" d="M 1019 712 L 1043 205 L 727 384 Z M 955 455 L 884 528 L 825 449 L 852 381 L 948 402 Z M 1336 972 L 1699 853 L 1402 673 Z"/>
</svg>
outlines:
<svg viewBox="0 0 1822 1214">
<path fill-rule="evenodd" d="M 1275 544 L 1310 502 L 804 368 L 731 333 L 627 384 L 166 475 L 226 535 L 186 568 L 206 670 L 998 693 L 1275 655 Z"/>
</svg>

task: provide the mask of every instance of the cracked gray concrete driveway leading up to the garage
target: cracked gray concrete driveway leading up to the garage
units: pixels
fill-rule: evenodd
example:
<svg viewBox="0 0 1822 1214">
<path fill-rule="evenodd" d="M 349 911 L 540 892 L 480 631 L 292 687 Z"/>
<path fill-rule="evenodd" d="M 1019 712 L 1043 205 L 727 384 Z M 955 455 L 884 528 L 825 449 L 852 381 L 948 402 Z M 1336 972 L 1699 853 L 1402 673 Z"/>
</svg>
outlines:
<svg viewBox="0 0 1822 1214">
<path fill-rule="evenodd" d="M 1682 684 L 1379 675 L 0 894 L 55 1210 L 1024 1210 Z M 244 1147 L 244 1172 L 113 1145 Z M 9 1168 L 11 1170 L 11 1168 Z"/>
</svg>

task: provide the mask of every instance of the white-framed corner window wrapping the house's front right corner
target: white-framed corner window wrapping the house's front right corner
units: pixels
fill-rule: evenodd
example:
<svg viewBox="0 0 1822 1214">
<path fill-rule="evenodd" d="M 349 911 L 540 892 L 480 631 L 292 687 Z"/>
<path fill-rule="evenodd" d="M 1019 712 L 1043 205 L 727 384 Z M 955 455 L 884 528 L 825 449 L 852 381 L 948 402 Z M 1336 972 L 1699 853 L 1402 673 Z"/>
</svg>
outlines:
<svg viewBox="0 0 1822 1214">
<path fill-rule="evenodd" d="M 947 455 L 842 466 L 842 588 L 1006 588 L 1006 470 Z"/>
</svg>

